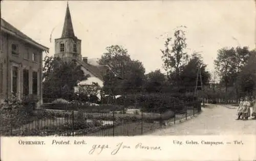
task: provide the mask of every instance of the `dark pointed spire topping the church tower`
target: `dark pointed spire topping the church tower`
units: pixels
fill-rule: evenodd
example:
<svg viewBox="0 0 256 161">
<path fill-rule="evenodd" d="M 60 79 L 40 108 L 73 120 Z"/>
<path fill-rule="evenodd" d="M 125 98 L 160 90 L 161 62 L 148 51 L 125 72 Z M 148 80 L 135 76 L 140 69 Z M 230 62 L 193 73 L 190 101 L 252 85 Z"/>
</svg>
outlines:
<svg viewBox="0 0 256 161">
<path fill-rule="evenodd" d="M 69 2 L 67 2 L 66 16 L 65 16 L 61 38 L 75 38 L 72 19 L 69 11 Z"/>
</svg>

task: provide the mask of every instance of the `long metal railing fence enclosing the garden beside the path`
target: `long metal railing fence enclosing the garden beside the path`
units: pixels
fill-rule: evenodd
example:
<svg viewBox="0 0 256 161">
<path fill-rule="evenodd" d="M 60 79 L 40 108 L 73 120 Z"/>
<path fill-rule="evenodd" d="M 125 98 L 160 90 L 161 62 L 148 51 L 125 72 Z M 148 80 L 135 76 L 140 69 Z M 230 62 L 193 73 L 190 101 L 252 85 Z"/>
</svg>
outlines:
<svg viewBox="0 0 256 161">
<path fill-rule="evenodd" d="M 152 109 L 90 112 L 47 110 L 26 117 L 22 124 L 2 122 L 2 136 L 136 136 L 176 124 L 201 111 L 201 102 Z M 10 117 L 9 117 L 10 119 Z M 15 118 L 13 118 L 15 119 Z M 2 119 L 3 121 L 3 119 Z"/>
</svg>

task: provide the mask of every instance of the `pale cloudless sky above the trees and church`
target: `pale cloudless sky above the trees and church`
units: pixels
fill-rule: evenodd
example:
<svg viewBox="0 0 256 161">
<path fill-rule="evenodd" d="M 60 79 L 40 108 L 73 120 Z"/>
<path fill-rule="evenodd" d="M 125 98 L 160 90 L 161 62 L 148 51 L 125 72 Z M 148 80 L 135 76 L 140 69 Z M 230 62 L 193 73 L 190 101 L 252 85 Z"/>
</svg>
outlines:
<svg viewBox="0 0 256 161">
<path fill-rule="evenodd" d="M 60 38 L 67 1 L 1 1 L 1 15 L 27 36 L 50 48 Z M 255 48 L 255 4 L 232 1 L 69 1 L 82 56 L 100 58 L 105 48 L 121 45 L 146 73 L 161 69 L 160 49 L 177 26 L 187 28 L 187 52 L 202 54 L 210 72 L 222 47 Z M 45 56 L 45 55 L 44 55 Z"/>
</svg>

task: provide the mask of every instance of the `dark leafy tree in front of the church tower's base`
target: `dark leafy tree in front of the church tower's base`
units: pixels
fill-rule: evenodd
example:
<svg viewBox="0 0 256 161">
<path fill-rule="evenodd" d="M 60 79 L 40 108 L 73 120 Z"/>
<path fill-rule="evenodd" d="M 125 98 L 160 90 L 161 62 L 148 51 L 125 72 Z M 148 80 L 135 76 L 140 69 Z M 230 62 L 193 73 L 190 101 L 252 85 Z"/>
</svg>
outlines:
<svg viewBox="0 0 256 161">
<path fill-rule="evenodd" d="M 74 87 L 89 77 L 75 61 L 64 62 L 60 58 L 46 57 L 43 67 L 43 95 L 47 98 L 71 99 Z"/>
</svg>

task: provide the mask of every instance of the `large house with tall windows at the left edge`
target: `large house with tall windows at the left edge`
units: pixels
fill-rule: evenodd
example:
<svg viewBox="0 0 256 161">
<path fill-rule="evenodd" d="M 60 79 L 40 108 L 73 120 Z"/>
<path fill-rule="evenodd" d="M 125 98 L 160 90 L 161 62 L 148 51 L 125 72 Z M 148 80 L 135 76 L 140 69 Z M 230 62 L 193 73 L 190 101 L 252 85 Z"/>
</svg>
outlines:
<svg viewBox="0 0 256 161">
<path fill-rule="evenodd" d="M 45 47 L 1 18 L 0 101 L 15 94 L 42 102 L 42 52 Z"/>
</svg>

